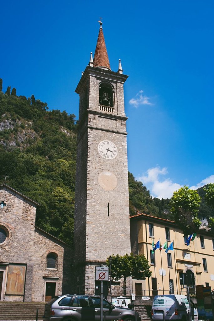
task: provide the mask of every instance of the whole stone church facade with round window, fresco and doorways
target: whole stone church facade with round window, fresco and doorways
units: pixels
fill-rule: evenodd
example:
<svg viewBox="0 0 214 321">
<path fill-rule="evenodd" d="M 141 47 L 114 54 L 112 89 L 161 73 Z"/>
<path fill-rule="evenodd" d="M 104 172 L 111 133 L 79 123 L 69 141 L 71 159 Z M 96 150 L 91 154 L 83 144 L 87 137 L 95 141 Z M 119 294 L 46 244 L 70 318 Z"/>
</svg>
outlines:
<svg viewBox="0 0 214 321">
<path fill-rule="evenodd" d="M 0 186 L 0 300 L 48 301 L 71 289 L 72 248 L 35 226 L 39 206 Z"/>
</svg>

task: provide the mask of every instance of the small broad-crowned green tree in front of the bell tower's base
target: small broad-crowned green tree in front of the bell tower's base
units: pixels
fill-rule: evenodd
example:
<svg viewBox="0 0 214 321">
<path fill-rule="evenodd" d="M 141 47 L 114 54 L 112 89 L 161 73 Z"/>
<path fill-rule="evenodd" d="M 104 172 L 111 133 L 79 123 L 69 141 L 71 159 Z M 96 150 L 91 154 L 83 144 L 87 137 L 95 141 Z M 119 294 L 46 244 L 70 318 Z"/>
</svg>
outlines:
<svg viewBox="0 0 214 321">
<path fill-rule="evenodd" d="M 144 255 L 136 255 L 133 253 L 121 256 L 111 255 L 107 258 L 107 265 L 111 265 L 111 277 L 118 280 L 124 279 L 123 291 L 126 295 L 126 280 L 127 277 L 132 276 L 134 279 L 140 280 L 142 278 L 150 277 L 150 265 Z"/>
</svg>

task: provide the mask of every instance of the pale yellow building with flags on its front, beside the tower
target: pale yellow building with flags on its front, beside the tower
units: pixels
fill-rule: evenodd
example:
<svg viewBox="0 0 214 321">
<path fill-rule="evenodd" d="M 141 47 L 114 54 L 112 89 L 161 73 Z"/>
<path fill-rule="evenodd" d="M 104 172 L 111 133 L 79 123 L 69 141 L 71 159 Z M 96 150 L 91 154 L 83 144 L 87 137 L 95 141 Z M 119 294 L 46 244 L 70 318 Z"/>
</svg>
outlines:
<svg viewBox="0 0 214 321">
<path fill-rule="evenodd" d="M 138 213 L 130 218 L 131 251 L 144 254 L 151 265 L 152 276 L 144 280 L 133 280 L 133 292 L 148 296 L 157 294 L 186 294 L 186 288 L 180 285 L 181 272 L 193 275 L 195 285 L 203 284 L 214 289 L 214 235 L 203 230 L 196 234 L 187 246 L 183 232 L 174 221 Z M 193 231 L 194 232 L 194 231 Z M 188 237 L 188 236 L 187 236 Z M 169 245 L 173 242 L 174 250 L 156 249 L 160 241 Z M 195 286 L 190 289 L 195 293 Z"/>
</svg>

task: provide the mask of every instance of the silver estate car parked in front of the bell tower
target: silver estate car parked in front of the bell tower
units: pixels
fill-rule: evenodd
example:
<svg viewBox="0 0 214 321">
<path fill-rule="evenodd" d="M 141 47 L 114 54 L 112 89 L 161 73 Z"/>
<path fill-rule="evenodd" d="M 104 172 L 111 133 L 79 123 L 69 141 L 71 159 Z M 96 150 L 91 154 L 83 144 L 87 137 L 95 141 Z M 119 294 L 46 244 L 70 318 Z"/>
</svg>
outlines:
<svg viewBox="0 0 214 321">
<path fill-rule="evenodd" d="M 127 308 L 117 308 L 103 299 L 106 320 L 141 321 L 139 313 Z M 56 296 L 45 305 L 44 321 L 95 321 L 100 320 L 100 297 L 86 294 Z"/>
</svg>

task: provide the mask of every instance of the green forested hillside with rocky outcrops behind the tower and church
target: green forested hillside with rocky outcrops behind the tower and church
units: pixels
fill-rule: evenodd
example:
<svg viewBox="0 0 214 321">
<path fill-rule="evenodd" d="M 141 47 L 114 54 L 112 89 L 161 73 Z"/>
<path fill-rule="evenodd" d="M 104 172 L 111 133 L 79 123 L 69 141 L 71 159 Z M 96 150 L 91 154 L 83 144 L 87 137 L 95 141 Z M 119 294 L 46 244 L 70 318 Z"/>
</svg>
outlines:
<svg viewBox="0 0 214 321">
<path fill-rule="evenodd" d="M 0 79 L 0 183 L 41 204 L 36 225 L 72 244 L 76 168 L 75 115 L 48 110 L 46 103 L 2 92 Z M 199 193 L 204 196 L 201 188 Z M 129 173 L 130 215 L 136 211 L 173 219 L 169 199 L 150 192 Z M 203 201 L 200 217 L 214 217 Z"/>
</svg>

